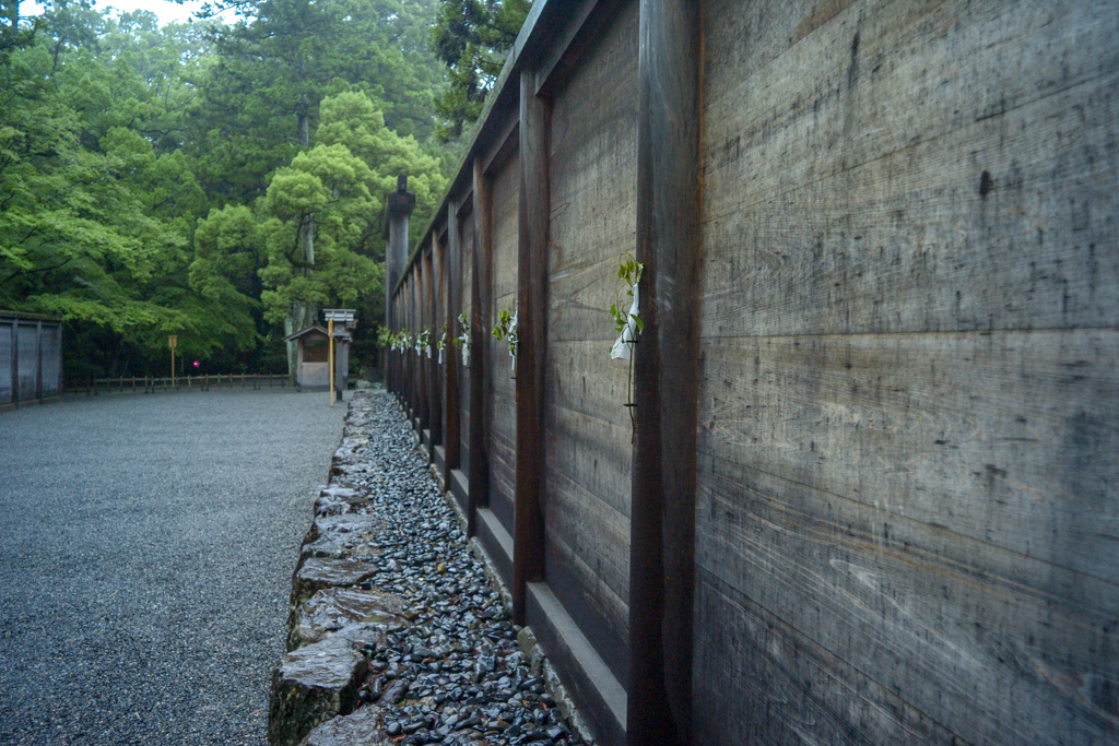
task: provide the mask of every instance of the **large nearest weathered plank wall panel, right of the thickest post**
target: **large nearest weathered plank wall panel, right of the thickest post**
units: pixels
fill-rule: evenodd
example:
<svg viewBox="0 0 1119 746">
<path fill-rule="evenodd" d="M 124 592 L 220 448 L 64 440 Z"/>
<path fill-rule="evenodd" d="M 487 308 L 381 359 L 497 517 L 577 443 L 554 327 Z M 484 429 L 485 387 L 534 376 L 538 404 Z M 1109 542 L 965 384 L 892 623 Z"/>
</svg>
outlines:
<svg viewBox="0 0 1119 746">
<path fill-rule="evenodd" d="M 1116 737 L 1113 10 L 708 2 L 699 743 Z"/>
</svg>

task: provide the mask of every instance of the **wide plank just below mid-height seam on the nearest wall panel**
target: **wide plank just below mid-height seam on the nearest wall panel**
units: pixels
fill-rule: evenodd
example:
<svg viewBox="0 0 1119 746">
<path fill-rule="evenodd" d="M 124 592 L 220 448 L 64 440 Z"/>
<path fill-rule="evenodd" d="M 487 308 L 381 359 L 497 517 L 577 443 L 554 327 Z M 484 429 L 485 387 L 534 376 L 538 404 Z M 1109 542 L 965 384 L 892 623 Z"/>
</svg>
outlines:
<svg viewBox="0 0 1119 746">
<path fill-rule="evenodd" d="M 1119 331 L 712 341 L 699 452 L 1116 583 Z"/>
</svg>

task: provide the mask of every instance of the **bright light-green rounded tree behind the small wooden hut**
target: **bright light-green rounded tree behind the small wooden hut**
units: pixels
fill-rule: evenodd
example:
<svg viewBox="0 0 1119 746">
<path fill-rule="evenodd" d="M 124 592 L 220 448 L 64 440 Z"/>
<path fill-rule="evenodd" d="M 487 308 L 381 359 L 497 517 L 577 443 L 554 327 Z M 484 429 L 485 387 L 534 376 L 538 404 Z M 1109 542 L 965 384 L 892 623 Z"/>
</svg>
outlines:
<svg viewBox="0 0 1119 746">
<path fill-rule="evenodd" d="M 269 254 L 261 301 L 286 333 L 313 323 L 327 303 L 379 319 L 384 196 L 398 173 L 410 174 L 422 219 L 446 186 L 440 161 L 389 130 L 363 92 L 325 98 L 318 134 L 314 148 L 276 170 L 260 205 Z"/>
</svg>

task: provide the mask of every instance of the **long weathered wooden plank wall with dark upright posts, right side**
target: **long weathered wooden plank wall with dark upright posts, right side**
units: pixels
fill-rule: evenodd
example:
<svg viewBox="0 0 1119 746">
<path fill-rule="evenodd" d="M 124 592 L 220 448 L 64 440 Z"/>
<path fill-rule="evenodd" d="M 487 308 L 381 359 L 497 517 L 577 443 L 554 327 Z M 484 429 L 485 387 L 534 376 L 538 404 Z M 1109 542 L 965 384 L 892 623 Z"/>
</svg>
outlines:
<svg viewBox="0 0 1119 746">
<path fill-rule="evenodd" d="M 666 40 L 679 18 L 702 31 Z M 391 289 L 413 333 L 480 314 L 458 377 L 471 533 L 507 582 L 523 572 L 516 387 L 489 331 L 528 282 L 517 112 L 538 82 L 545 567 L 527 617 L 599 743 L 1119 743 L 1119 4 L 705 0 L 698 18 L 686 0 L 538 0 L 419 245 L 434 263 L 415 252 Z M 690 102 L 665 93 L 687 76 L 657 78 L 671 55 L 650 49 L 681 39 L 704 50 L 700 103 L 683 105 L 702 178 L 673 185 L 687 151 L 652 141 L 676 115 L 652 107 Z M 609 359 L 618 257 L 658 216 L 639 195 L 702 226 L 657 248 L 679 259 L 661 282 L 702 259 L 699 310 L 658 305 L 686 294 L 656 272 L 642 302 L 658 355 L 699 327 L 698 414 L 676 434 L 696 460 L 667 498 L 641 474 L 675 462 L 634 462 L 649 441 L 631 442 L 628 367 Z M 461 268 L 444 282 L 448 219 Z M 459 283 L 458 308 L 417 315 L 440 292 L 425 274 Z M 394 359 L 413 416 L 453 406 L 442 371 L 424 394 L 416 356 Z M 639 377 L 637 398 L 656 385 Z M 667 417 L 657 391 L 642 400 Z M 664 517 L 693 500 L 695 537 L 674 547 L 686 533 Z M 641 575 L 631 527 L 649 520 L 694 576 Z M 652 630 L 641 598 L 671 594 L 685 623 Z M 670 707 L 622 689 L 681 638 Z M 641 737 L 634 714 L 653 718 Z"/>
</svg>

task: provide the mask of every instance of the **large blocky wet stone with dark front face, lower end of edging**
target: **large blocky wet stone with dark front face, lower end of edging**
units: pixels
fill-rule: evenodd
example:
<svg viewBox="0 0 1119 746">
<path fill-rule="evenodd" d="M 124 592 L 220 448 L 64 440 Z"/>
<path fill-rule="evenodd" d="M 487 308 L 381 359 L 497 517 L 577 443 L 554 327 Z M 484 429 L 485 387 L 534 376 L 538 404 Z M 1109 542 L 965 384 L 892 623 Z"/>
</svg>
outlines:
<svg viewBox="0 0 1119 746">
<path fill-rule="evenodd" d="M 269 743 L 295 746 L 320 723 L 352 712 L 367 668 L 359 643 L 345 634 L 285 653 L 272 676 Z"/>
</svg>

